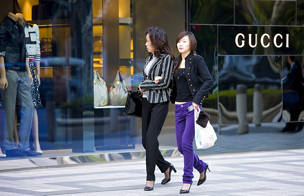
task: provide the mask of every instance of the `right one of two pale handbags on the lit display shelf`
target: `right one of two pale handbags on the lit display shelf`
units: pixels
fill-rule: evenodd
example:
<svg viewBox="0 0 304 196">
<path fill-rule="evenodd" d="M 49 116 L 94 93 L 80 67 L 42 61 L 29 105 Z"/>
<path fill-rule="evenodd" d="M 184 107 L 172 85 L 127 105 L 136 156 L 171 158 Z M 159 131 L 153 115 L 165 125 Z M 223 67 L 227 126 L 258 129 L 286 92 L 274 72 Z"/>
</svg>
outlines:
<svg viewBox="0 0 304 196">
<path fill-rule="evenodd" d="M 116 79 L 113 83 L 113 86 L 110 88 L 109 96 L 110 101 L 113 106 L 124 106 L 126 105 L 126 100 L 128 94 L 126 91 L 130 90 L 129 87 L 126 86 L 125 81 L 120 75 L 120 71 L 117 70 Z"/>
</svg>

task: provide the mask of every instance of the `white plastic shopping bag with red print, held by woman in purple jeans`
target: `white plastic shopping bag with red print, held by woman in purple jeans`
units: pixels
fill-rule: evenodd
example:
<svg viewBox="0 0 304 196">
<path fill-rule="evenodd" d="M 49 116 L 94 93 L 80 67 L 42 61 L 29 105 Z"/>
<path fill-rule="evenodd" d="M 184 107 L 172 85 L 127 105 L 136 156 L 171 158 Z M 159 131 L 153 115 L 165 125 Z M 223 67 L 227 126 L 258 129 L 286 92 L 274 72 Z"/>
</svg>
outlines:
<svg viewBox="0 0 304 196">
<path fill-rule="evenodd" d="M 206 128 L 203 128 L 196 123 L 196 119 L 199 117 L 200 111 L 200 109 L 199 111 L 194 111 L 195 144 L 197 149 L 205 149 L 212 147 L 217 137 L 209 121 Z"/>
</svg>

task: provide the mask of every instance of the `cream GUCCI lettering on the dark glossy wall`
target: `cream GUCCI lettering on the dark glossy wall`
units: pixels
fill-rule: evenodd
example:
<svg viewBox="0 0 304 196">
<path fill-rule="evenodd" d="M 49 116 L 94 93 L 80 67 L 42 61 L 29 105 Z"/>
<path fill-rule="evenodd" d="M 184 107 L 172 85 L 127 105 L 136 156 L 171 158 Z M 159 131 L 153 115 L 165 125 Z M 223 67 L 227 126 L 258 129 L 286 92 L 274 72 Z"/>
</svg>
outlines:
<svg viewBox="0 0 304 196">
<path fill-rule="evenodd" d="M 245 40 L 241 40 L 241 42 L 242 42 L 242 44 L 240 45 L 239 44 L 239 42 L 238 42 L 238 39 L 239 39 L 239 37 L 240 36 L 242 36 L 243 37 L 243 39 L 245 39 L 245 36 L 244 36 L 244 34 L 243 33 L 239 33 L 239 34 L 237 34 L 237 36 L 235 37 L 235 44 L 237 44 L 237 47 L 244 47 L 245 46 Z M 255 34 L 255 43 L 254 43 L 254 45 L 252 44 L 252 39 L 251 39 L 251 37 L 252 37 L 252 34 L 248 34 L 248 42 L 249 42 L 249 46 L 250 47 L 256 47 L 257 46 L 257 34 Z M 264 38 L 265 37 L 267 37 L 268 38 L 268 42 L 264 42 Z M 279 40 L 279 38 L 278 37 L 280 37 L 281 38 L 281 40 Z M 267 39 L 266 39 L 267 40 Z M 267 48 L 267 47 L 269 47 L 269 45 L 270 45 L 270 42 L 269 42 L 269 40 L 270 40 L 270 36 L 267 34 L 267 33 L 264 33 L 262 36 L 261 36 L 261 45 L 263 46 L 263 47 L 265 47 L 265 48 Z M 280 33 L 278 33 L 278 34 L 276 34 L 275 35 L 275 37 L 273 37 L 273 43 L 275 44 L 275 47 L 282 47 L 282 45 L 283 45 L 283 42 L 282 42 L 282 40 L 283 40 L 283 36 L 280 34 Z M 279 42 L 279 45 L 278 45 L 278 42 Z M 286 47 L 289 47 L 289 34 L 286 34 Z"/>
</svg>

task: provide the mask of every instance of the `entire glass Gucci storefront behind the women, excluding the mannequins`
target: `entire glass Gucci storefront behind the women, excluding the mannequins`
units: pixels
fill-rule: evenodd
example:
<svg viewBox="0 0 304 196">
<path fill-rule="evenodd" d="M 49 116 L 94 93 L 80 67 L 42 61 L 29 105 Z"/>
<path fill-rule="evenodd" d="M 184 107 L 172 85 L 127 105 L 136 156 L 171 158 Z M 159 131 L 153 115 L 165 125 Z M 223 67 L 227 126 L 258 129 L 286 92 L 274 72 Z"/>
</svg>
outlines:
<svg viewBox="0 0 304 196">
<path fill-rule="evenodd" d="M 285 83 L 292 70 L 288 56 L 302 70 L 304 65 L 300 1 L 7 0 L 4 7 L 1 18 L 22 13 L 39 27 L 42 107 L 36 111 L 43 153 L 32 158 L 46 158 L 36 160 L 41 166 L 56 159 L 50 157 L 57 157 L 54 164 L 130 159 L 132 152 L 145 157 L 141 119 L 124 116 L 123 110 L 124 91 L 135 91 L 142 81 L 148 55 L 144 31 L 151 26 L 166 31 L 175 56 L 177 35 L 193 32 L 196 51 L 212 74 L 214 87 L 203 110 L 218 140 L 208 149 L 194 144 L 196 153 L 304 147 L 304 95 L 297 92 L 294 100 Z M 290 130 L 282 132 L 289 123 Z M 35 138 L 32 130 L 31 150 Z M 164 154 L 180 155 L 171 103 L 158 140 Z M 4 152 L 2 142 L 0 147 Z M 82 155 L 88 156 L 75 158 Z M 21 159 L 29 157 L 0 161 Z"/>
</svg>

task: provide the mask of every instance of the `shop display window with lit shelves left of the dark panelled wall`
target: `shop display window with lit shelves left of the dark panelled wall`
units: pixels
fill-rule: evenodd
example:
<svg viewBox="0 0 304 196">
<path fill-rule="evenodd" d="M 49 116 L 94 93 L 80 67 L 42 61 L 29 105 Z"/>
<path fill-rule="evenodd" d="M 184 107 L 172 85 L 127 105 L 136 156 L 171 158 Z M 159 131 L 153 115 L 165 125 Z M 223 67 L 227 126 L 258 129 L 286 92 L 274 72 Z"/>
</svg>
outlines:
<svg viewBox="0 0 304 196">
<path fill-rule="evenodd" d="M 173 5 L 178 14 L 168 12 Z M 123 114 L 124 92 L 136 90 L 143 80 L 147 27 L 163 28 L 177 54 L 175 38 L 185 30 L 185 1 L 8 0 L 0 13 L 5 17 L 9 12 L 22 13 L 39 29 L 40 67 L 34 68 L 41 107 L 36 107 L 38 136 L 32 130 L 29 137 L 31 151 L 42 151 L 42 157 L 144 151 L 141 119 Z M 171 23 L 164 23 L 157 12 L 168 12 Z M 18 123 L 19 116 L 17 112 Z M 15 130 L 14 142 L 17 136 Z M 173 104 L 159 139 L 160 148 L 176 148 Z"/>
</svg>

